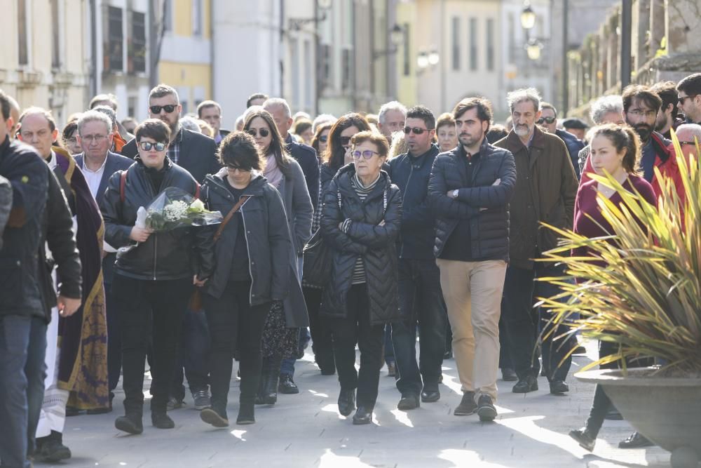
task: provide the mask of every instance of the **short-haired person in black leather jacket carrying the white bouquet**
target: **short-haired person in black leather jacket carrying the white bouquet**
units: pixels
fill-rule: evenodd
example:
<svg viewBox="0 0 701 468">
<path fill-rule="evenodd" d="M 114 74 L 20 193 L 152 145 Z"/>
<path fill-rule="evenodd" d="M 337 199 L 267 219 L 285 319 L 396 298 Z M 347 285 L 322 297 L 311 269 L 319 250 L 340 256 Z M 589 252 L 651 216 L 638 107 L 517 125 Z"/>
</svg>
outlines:
<svg viewBox="0 0 701 468">
<path fill-rule="evenodd" d="M 137 210 L 168 187 L 191 196 L 198 192 L 189 172 L 168 157 L 170 128 L 149 119 L 135 129 L 139 150 L 136 162 L 109 179 L 100 203 L 104 218 L 104 240 L 115 248 L 132 246 L 117 256 L 112 292 L 116 298 L 122 336 L 125 415 L 114 422 L 130 434 L 143 432 L 144 361 L 151 345 L 151 422 L 159 429 L 175 427 L 166 415 L 168 388 L 177 359 L 182 316 L 193 281 L 210 276 L 213 265 L 207 250 L 207 230 L 180 227 L 153 232 L 137 227 Z M 196 258 L 192 258 L 192 257 Z M 193 272 L 193 265 L 198 265 Z M 193 279 L 194 274 L 194 279 Z"/>
</svg>

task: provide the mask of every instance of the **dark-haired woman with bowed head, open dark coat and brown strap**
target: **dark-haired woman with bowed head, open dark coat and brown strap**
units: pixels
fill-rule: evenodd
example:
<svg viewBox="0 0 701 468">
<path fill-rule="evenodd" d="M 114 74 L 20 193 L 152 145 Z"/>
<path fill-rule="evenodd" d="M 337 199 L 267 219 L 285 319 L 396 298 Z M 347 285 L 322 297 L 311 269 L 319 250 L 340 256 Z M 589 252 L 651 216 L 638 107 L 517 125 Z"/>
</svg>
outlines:
<svg viewBox="0 0 701 468">
<path fill-rule="evenodd" d="M 204 289 L 212 340 L 212 406 L 202 410 L 200 417 L 215 427 L 226 427 L 226 402 L 236 350 L 241 373 L 236 423 L 255 422 L 261 337 L 271 305 L 282 302 L 290 287 L 292 243 L 283 200 L 261 175 L 264 156 L 252 136 L 238 131 L 227 135 L 219 146 L 219 161 L 224 168 L 205 178 L 203 201 L 210 210 L 232 216 L 223 229 L 219 227 L 215 243 L 217 268 Z"/>
</svg>

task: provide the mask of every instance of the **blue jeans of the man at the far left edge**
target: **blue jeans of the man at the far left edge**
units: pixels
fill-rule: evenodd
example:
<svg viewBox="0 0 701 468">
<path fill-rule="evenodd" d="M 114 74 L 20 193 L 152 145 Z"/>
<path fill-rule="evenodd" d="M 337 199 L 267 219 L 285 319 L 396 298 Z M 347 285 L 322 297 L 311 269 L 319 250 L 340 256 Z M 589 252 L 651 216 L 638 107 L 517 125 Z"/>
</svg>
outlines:
<svg viewBox="0 0 701 468">
<path fill-rule="evenodd" d="M 31 466 L 27 460 L 27 445 L 34 443 L 34 433 L 43 402 L 45 353 L 46 322 L 43 319 L 18 315 L 0 316 L 2 467 Z M 32 428 L 30 436 L 29 430 Z"/>
</svg>

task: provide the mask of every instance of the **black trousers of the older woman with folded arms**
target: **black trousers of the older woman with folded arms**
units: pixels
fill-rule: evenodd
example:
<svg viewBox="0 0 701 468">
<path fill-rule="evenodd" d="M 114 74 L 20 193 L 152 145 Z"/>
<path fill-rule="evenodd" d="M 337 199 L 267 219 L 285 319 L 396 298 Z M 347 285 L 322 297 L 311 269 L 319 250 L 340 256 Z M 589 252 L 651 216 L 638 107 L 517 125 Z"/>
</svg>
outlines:
<svg viewBox="0 0 701 468">
<path fill-rule="evenodd" d="M 367 286 L 354 284 L 346 297 L 348 315 L 329 319 L 341 389 L 358 389 L 358 406 L 372 410 L 377 400 L 382 367 L 384 325 L 370 324 Z M 360 371 L 355 370 L 355 345 L 360 348 Z"/>
</svg>

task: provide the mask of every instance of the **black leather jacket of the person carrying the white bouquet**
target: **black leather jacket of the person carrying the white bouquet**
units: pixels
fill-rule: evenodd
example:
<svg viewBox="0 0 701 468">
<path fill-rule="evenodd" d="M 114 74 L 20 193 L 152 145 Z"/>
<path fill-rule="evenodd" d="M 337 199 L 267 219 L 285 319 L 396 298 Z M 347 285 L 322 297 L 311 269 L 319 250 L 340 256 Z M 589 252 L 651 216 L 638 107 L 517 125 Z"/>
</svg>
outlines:
<svg viewBox="0 0 701 468">
<path fill-rule="evenodd" d="M 104 240 L 114 248 L 133 244 L 129 238 L 136 222 L 139 206 L 146 208 L 158 194 L 168 187 L 178 187 L 195 196 L 197 182 L 189 172 L 165 158 L 163 182 L 157 191 L 151 183 L 147 168 L 137 157 L 137 164 L 127 170 L 124 202 L 120 196 L 122 171 L 109 178 L 107 192 L 100 201 L 104 218 Z M 205 249 L 209 232 L 200 228 L 179 228 L 168 232 L 154 232 L 146 242 L 139 243 L 128 253 L 118 255 L 116 273 L 134 279 L 183 279 L 197 274 L 200 279 L 212 274 L 214 258 Z"/>
</svg>

